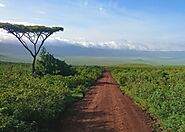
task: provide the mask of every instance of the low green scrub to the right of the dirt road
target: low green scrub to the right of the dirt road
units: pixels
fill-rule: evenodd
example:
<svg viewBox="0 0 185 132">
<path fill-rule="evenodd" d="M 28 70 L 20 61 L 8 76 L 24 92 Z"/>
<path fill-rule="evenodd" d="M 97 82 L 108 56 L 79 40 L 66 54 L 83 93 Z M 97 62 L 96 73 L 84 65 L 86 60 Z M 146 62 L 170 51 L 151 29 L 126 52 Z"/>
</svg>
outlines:
<svg viewBox="0 0 185 132">
<path fill-rule="evenodd" d="M 185 131 L 185 67 L 120 65 L 110 68 L 131 96 L 164 131 Z"/>
</svg>

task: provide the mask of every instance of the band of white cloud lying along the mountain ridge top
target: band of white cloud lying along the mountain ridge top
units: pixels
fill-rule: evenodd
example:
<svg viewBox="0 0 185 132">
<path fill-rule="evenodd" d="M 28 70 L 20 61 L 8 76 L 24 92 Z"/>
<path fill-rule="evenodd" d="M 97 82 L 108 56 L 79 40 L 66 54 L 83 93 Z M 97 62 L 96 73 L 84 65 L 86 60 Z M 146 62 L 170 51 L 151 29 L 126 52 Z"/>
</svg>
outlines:
<svg viewBox="0 0 185 132">
<path fill-rule="evenodd" d="M 18 41 L 11 34 L 0 30 L 0 43 L 17 43 Z M 51 36 L 47 41 L 50 45 L 74 45 L 87 48 L 113 49 L 113 50 L 138 50 L 138 51 L 185 51 L 185 42 L 178 43 L 143 43 L 131 40 L 111 40 L 111 41 L 88 41 L 84 38 L 69 39 L 58 35 Z M 170 46 L 169 46 L 170 45 Z"/>
</svg>

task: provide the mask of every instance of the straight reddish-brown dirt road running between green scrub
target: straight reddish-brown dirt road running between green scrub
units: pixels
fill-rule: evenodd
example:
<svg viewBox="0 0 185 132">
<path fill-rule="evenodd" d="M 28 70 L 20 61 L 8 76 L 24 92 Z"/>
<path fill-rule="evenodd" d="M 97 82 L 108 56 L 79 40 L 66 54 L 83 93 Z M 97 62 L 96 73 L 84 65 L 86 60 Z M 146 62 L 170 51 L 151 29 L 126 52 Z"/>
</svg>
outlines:
<svg viewBox="0 0 185 132">
<path fill-rule="evenodd" d="M 60 132 L 150 132 L 149 118 L 104 72 L 85 98 L 65 113 Z"/>
</svg>

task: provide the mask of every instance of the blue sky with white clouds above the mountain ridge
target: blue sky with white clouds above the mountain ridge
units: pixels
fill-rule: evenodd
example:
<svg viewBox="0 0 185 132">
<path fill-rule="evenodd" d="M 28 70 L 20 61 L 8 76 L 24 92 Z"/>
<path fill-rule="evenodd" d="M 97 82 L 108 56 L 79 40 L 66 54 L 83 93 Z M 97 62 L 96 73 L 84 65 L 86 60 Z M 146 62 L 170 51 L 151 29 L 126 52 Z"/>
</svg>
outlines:
<svg viewBox="0 0 185 132">
<path fill-rule="evenodd" d="M 86 47 L 185 50 L 185 0 L 0 0 L 0 22 L 62 26 L 50 41 Z"/>
</svg>

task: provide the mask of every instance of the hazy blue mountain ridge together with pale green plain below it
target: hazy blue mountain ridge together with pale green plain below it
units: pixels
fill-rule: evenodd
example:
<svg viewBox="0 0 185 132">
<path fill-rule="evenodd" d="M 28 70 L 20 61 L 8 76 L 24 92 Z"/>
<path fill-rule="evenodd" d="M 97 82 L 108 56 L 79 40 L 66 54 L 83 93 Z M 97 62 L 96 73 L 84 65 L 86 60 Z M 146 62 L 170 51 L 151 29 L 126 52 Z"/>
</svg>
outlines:
<svg viewBox="0 0 185 132">
<path fill-rule="evenodd" d="M 152 65 L 185 65 L 184 51 L 142 51 L 112 49 L 108 47 L 84 47 L 67 42 L 47 42 L 46 49 L 70 64 L 111 65 L 142 63 Z M 31 62 L 32 58 L 18 42 L 0 43 L 1 61 Z"/>
</svg>

